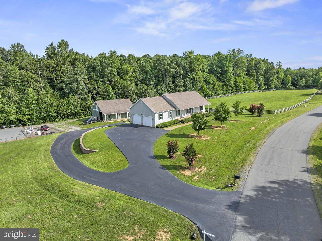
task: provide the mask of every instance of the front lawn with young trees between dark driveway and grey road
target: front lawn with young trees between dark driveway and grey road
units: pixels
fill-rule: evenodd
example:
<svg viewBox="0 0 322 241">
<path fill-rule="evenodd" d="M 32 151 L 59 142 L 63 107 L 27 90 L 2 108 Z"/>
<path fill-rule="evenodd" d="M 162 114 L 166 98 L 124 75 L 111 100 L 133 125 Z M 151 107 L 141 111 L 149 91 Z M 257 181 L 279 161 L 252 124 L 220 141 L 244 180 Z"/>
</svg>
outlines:
<svg viewBox="0 0 322 241">
<path fill-rule="evenodd" d="M 272 94 L 272 92 L 267 93 Z M 279 102 L 279 99 L 272 101 L 271 106 L 281 105 L 275 102 Z M 320 105 L 322 105 L 322 94 L 313 97 L 307 103 L 308 107 L 302 105 L 276 115 L 264 114 L 258 117 L 245 113 L 238 117 L 238 122 L 232 115 L 233 121 L 224 122 L 223 128 L 219 129 L 212 128 L 214 125 L 220 126 L 220 122 L 213 120 L 213 116 L 210 116 L 208 117 L 210 120 L 208 128 L 200 132 L 204 139 L 189 138 L 189 134 L 196 133 L 192 125 L 179 127 L 156 141 L 154 153 L 158 161 L 179 179 L 198 187 L 224 189 L 232 181 L 234 173 L 242 174 L 245 168 L 249 168 L 260 145 L 274 128 Z M 187 162 L 181 154 L 176 154 L 177 159 L 167 158 L 166 142 L 171 139 L 178 139 L 181 147 L 179 152 L 182 152 L 185 144 L 194 143 L 198 154 L 202 155 L 195 162 L 194 166 L 198 168 L 196 171 L 186 170 Z M 242 176 L 242 178 L 246 177 Z M 235 190 L 235 188 L 225 190 Z"/>
</svg>

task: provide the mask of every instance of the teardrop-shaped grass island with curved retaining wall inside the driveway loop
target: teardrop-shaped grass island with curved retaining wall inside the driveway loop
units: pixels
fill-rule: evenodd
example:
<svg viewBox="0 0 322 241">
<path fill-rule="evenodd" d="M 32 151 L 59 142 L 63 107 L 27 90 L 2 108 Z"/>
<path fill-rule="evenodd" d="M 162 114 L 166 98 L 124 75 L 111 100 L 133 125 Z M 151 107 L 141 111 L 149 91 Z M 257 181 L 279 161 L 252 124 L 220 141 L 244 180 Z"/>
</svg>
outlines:
<svg viewBox="0 0 322 241">
<path fill-rule="evenodd" d="M 91 131 L 84 135 L 83 144 L 88 149 L 99 150 L 98 152 L 84 154 L 80 149 L 80 138 L 71 147 L 74 155 L 86 166 L 98 171 L 119 171 L 128 166 L 128 160 L 116 145 L 104 133 L 106 127 Z"/>
</svg>

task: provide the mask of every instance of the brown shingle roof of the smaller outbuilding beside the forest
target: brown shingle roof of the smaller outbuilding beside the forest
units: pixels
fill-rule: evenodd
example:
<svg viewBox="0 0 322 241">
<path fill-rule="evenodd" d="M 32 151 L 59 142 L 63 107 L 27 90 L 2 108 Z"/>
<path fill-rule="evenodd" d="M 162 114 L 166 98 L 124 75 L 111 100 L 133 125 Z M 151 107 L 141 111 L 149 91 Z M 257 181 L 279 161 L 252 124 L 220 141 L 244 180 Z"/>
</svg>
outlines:
<svg viewBox="0 0 322 241">
<path fill-rule="evenodd" d="M 128 112 L 128 108 L 133 105 L 130 99 L 96 100 L 95 102 L 103 114 Z"/>
</svg>

